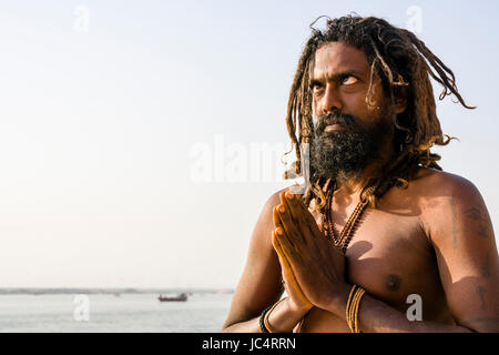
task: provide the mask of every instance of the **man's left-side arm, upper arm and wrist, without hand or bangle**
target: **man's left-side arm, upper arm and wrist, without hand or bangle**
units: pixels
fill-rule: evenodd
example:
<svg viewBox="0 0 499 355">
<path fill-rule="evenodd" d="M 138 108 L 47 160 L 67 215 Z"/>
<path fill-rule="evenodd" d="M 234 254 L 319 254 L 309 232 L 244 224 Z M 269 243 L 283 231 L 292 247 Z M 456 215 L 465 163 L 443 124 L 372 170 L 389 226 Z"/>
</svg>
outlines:
<svg viewBox="0 0 499 355">
<path fill-rule="evenodd" d="M 261 313 L 283 294 L 281 264 L 272 245 L 273 209 L 279 204 L 278 194 L 268 199 L 256 222 L 246 265 L 222 332 L 261 332 Z M 281 302 L 269 315 L 268 322 L 275 332 L 291 332 L 305 315 L 287 301 Z"/>
</svg>

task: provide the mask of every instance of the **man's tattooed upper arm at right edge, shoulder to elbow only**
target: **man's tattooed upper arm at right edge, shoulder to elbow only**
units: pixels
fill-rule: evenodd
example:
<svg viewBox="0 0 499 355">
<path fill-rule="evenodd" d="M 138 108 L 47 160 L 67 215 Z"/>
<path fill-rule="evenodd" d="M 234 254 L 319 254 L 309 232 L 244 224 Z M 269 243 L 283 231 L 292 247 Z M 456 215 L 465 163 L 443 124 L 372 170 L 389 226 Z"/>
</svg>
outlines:
<svg viewBox="0 0 499 355">
<path fill-rule="evenodd" d="M 473 184 L 446 175 L 445 214 L 432 214 L 429 235 L 449 310 L 459 325 L 499 332 L 499 260 L 487 206 Z"/>
</svg>

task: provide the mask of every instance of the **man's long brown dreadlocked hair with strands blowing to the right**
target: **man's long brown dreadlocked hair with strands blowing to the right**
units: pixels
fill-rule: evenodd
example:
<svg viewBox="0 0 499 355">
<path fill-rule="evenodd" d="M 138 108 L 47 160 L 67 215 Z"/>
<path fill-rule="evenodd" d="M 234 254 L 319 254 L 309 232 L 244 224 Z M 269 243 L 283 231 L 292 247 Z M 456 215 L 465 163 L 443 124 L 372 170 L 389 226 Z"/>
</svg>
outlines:
<svg viewBox="0 0 499 355">
<path fill-rule="evenodd" d="M 444 87 L 439 100 L 454 94 L 465 108 L 475 108 L 465 103 L 456 87 L 452 71 L 413 32 L 374 17 L 347 16 L 328 19 L 323 31 L 314 28 L 316 21 L 310 24 L 312 36 L 305 43 L 289 91 L 286 125 L 296 161 L 284 176 L 291 179 L 301 174 L 299 146 L 313 139 L 312 91 L 308 85 L 315 52 L 328 42 L 354 45 L 364 51 L 370 65 L 366 104 L 369 106 L 375 104 L 373 102 L 375 79 L 381 81 L 383 90 L 391 100 L 396 153 L 391 161 L 381 166 L 377 175 L 369 178 L 360 192 L 361 199 L 367 199 L 370 205 L 376 207 L 376 201 L 391 186 L 407 187 L 416 168 L 441 170 L 437 163 L 440 156 L 430 152 L 430 148 L 435 144 L 447 145 L 454 138 L 441 132 L 429 77 Z M 407 90 L 407 108 L 405 112 L 396 114 L 395 97 L 401 87 Z M 303 196 L 304 202 L 308 205 L 312 199 L 316 199 L 318 210 L 323 211 L 326 204 L 323 191 L 326 181 L 316 176 L 313 166 L 309 176 L 310 185 Z"/>
</svg>

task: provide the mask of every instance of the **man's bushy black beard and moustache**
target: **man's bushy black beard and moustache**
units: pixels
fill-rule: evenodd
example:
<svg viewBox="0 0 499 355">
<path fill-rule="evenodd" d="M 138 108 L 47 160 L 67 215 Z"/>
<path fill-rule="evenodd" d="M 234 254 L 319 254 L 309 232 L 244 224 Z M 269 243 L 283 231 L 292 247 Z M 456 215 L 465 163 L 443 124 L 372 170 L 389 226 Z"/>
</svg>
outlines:
<svg viewBox="0 0 499 355">
<path fill-rule="evenodd" d="M 349 114 L 327 114 L 318 119 L 310 143 L 310 170 L 313 178 L 352 179 L 379 158 L 378 150 L 389 128 L 379 123 L 365 129 L 358 119 Z M 328 124 L 340 124 L 344 130 L 324 133 Z"/>
</svg>

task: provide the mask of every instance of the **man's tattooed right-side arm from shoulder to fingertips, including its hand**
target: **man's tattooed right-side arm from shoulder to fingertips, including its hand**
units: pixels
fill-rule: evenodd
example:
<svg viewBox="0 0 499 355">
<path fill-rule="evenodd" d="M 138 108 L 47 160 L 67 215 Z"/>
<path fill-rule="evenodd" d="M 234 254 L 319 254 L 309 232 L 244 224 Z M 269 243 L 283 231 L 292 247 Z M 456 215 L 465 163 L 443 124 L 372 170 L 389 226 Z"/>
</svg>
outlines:
<svg viewBox="0 0 499 355">
<path fill-rule="evenodd" d="M 361 300 L 358 320 L 363 332 L 499 332 L 498 254 L 492 226 L 478 190 L 468 181 L 450 175 L 439 175 L 432 184 L 431 203 L 424 211 L 422 223 L 438 261 L 441 283 L 450 312 L 457 326 L 429 321 L 410 322 L 406 314 L 370 295 Z M 438 194 L 438 195 L 437 195 Z M 289 222 L 282 236 L 285 254 L 293 273 L 310 302 L 346 321 L 345 308 L 350 286 L 339 281 L 329 258 L 314 255 L 324 250 L 322 239 L 306 236 L 299 231 L 314 231 L 313 219 L 305 207 L 289 200 L 289 211 L 298 216 L 298 225 Z M 302 212 L 299 211 L 302 210 Z M 303 214 L 305 217 L 299 217 Z M 291 243 L 286 243 L 286 241 Z M 315 252 L 317 253 L 317 252 Z M 312 277 L 312 275 L 314 277 Z M 425 300 L 422 300 L 424 306 Z"/>
</svg>

